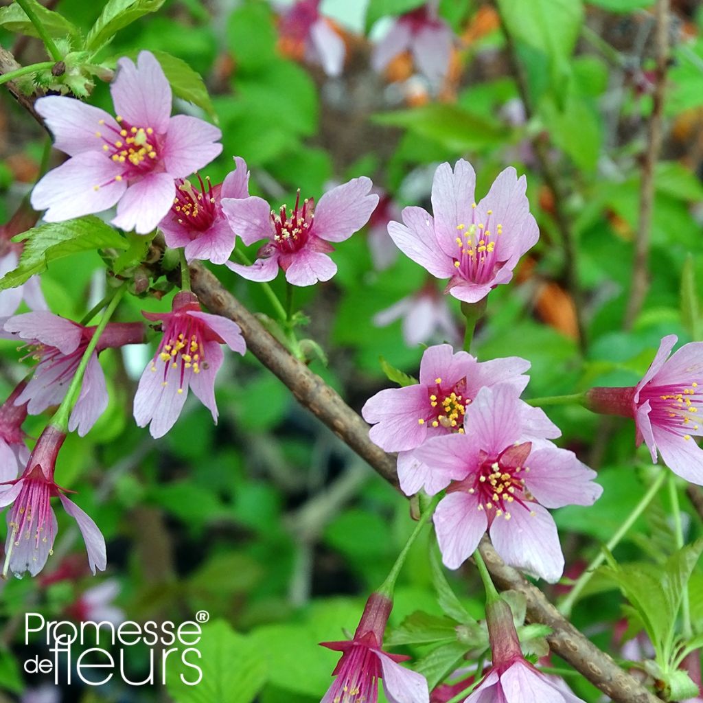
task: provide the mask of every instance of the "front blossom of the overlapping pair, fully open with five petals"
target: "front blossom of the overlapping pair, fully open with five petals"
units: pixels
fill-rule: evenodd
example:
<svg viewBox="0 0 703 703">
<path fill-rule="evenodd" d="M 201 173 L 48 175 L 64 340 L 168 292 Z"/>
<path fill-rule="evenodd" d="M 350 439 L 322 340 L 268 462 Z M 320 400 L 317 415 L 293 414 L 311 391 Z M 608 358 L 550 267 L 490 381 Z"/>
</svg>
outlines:
<svg viewBox="0 0 703 703">
<path fill-rule="evenodd" d="M 564 556 L 546 508 L 592 505 L 602 493 L 592 482 L 595 472 L 546 441 L 558 429 L 508 384 L 478 392 L 466 408 L 464 430 L 429 439 L 414 452 L 444 481 L 451 479 L 434 512 L 442 561 L 458 569 L 488 530 L 505 562 L 555 583 Z"/>
</svg>

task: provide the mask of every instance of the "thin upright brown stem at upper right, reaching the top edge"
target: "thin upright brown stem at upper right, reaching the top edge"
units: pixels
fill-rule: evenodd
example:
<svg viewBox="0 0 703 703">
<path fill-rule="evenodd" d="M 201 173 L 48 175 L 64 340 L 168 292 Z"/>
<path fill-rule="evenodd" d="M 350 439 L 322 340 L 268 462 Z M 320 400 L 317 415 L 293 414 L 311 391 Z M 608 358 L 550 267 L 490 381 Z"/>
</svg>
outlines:
<svg viewBox="0 0 703 703">
<path fill-rule="evenodd" d="M 648 132 L 647 151 L 642 165 L 640 181 L 640 214 L 635 232 L 635 256 L 633 260 L 630 297 L 627 301 L 624 328 L 632 328 L 649 288 L 649 254 L 652 236 L 652 212 L 654 210 L 654 168 L 662 151 L 662 122 L 664 116 L 664 93 L 666 90 L 666 68 L 669 65 L 669 0 L 657 0 L 654 7 L 654 44 L 657 65 L 654 71 L 654 95 L 652 115 Z"/>
</svg>

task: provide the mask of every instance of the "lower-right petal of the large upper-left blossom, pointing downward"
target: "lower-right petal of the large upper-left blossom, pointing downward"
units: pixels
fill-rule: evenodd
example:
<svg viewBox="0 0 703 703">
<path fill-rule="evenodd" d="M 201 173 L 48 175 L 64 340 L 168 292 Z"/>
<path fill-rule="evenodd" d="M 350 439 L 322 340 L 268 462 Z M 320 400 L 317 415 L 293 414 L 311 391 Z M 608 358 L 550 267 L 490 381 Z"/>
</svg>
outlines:
<svg viewBox="0 0 703 703">
<path fill-rule="evenodd" d="M 134 230 L 137 234 L 148 234 L 169 212 L 174 195 L 176 184 L 170 174 L 150 173 L 127 188 L 112 224 L 125 232 Z"/>
</svg>

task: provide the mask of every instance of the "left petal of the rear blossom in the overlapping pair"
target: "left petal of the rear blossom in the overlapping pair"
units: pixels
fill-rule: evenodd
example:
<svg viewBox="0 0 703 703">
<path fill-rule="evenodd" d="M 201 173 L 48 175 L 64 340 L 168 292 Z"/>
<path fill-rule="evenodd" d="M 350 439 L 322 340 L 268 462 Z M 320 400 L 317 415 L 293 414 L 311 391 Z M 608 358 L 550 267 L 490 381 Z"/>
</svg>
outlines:
<svg viewBox="0 0 703 703">
<path fill-rule="evenodd" d="M 369 432 L 375 444 L 385 451 L 404 451 L 425 441 L 427 423 L 420 425 L 418 419 L 425 417 L 428 404 L 427 389 L 420 385 L 387 388 L 366 401 L 361 415 L 367 423 L 378 423 Z"/>
</svg>

